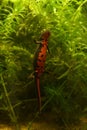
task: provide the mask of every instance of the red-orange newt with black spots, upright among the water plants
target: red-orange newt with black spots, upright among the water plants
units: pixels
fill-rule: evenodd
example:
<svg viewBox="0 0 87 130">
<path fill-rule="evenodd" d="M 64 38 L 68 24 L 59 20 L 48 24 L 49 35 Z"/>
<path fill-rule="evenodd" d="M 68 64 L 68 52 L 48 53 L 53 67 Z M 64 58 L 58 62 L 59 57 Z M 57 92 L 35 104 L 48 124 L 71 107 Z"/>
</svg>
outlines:
<svg viewBox="0 0 87 130">
<path fill-rule="evenodd" d="M 34 75 L 35 75 L 35 84 L 38 93 L 38 106 L 39 112 L 41 111 L 41 94 L 40 94 L 40 76 L 44 72 L 44 65 L 46 61 L 46 52 L 48 49 L 48 38 L 50 36 L 49 31 L 42 33 L 40 41 L 35 41 L 36 44 L 39 44 L 35 56 L 34 56 Z"/>
</svg>

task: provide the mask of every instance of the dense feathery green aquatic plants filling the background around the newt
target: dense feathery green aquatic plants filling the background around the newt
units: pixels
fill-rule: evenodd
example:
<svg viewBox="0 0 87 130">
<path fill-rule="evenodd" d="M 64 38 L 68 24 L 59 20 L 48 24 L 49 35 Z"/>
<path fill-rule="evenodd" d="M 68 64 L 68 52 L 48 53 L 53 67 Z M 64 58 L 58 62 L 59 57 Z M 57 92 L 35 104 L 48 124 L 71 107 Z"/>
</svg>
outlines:
<svg viewBox="0 0 87 130">
<path fill-rule="evenodd" d="M 6 93 L 18 118 L 23 105 L 24 114 L 33 105 L 33 112 L 37 110 L 34 39 L 44 30 L 51 32 L 51 55 L 45 66 L 48 73 L 41 77 L 44 102 L 48 102 L 43 109 L 50 108 L 68 124 L 87 112 L 87 0 L 0 2 L 0 110 L 9 111 Z"/>
</svg>

